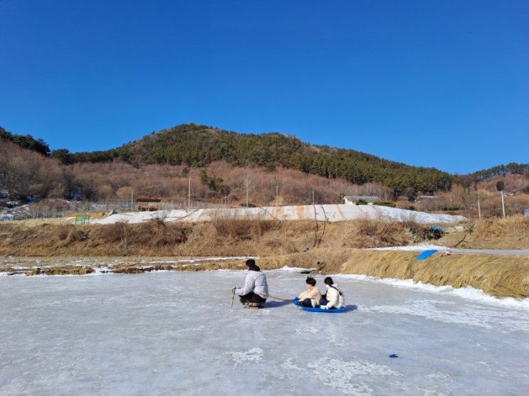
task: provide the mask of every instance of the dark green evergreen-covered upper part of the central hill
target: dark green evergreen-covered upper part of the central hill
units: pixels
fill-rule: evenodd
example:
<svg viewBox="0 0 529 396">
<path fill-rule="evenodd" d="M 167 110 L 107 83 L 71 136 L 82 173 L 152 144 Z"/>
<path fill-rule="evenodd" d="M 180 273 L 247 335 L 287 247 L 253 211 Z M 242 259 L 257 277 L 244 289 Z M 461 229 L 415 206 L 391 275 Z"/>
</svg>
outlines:
<svg viewBox="0 0 529 396">
<path fill-rule="evenodd" d="M 118 149 L 76 154 L 58 150 L 52 156 L 65 164 L 119 158 L 135 166 L 200 167 L 219 160 L 234 166 L 261 166 L 270 171 L 282 166 L 328 178 L 345 178 L 357 184 L 378 181 L 397 194 L 407 188 L 422 193 L 444 191 L 454 181 L 454 176 L 435 168 L 408 166 L 354 150 L 313 146 L 284 134 L 239 134 L 197 124 L 153 132 Z"/>
</svg>

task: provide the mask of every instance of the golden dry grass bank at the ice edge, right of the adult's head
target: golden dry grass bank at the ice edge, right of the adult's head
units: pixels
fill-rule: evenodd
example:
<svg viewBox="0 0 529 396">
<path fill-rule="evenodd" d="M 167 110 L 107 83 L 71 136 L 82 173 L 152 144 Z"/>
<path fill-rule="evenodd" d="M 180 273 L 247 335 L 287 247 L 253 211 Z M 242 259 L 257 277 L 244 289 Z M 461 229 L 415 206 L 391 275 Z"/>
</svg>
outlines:
<svg viewBox="0 0 529 396">
<path fill-rule="evenodd" d="M 379 278 L 452 287 L 471 286 L 495 296 L 529 296 L 529 257 L 490 255 L 433 255 L 417 260 L 417 252 L 318 250 L 305 254 L 266 257 L 261 268 L 290 265 L 316 268 L 325 274 L 365 274 Z"/>
</svg>

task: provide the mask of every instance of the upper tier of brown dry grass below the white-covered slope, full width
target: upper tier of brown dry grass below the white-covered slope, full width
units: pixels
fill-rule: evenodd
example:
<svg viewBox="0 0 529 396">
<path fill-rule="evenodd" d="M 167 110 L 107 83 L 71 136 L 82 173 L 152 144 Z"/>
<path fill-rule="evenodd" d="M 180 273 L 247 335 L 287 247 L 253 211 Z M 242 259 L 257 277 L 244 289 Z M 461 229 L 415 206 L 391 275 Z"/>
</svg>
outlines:
<svg viewBox="0 0 529 396">
<path fill-rule="evenodd" d="M 226 218 L 210 223 L 73 225 L 43 223 L 26 227 L 0 223 L 0 255 L 23 256 L 239 256 L 287 255 L 302 250 L 386 247 L 429 242 L 423 225 L 354 220 L 314 221 Z M 466 231 L 436 241 L 449 247 L 529 248 L 529 219 L 495 218 L 466 225 Z"/>
</svg>

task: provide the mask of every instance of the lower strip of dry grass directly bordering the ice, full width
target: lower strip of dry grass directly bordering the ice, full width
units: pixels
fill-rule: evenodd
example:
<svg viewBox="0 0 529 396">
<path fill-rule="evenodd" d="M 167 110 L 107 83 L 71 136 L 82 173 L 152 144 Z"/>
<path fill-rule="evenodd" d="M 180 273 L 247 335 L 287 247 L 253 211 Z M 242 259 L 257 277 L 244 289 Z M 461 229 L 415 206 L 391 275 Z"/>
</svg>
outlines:
<svg viewBox="0 0 529 396">
<path fill-rule="evenodd" d="M 275 255 L 258 259 L 261 269 L 277 269 L 288 265 L 314 269 L 322 274 L 365 274 L 380 278 L 414 279 L 416 282 L 452 287 L 471 286 L 495 296 L 529 296 L 529 257 L 494 257 L 490 255 L 433 255 L 425 260 L 416 259 L 417 252 L 374 251 L 357 249 L 318 249 L 293 255 Z M 123 261 L 126 262 L 123 262 Z M 25 269 L 13 269 L 14 263 L 24 259 L 4 259 L 0 271 L 31 274 L 87 274 L 90 267 L 103 264 L 110 272 L 139 274 L 156 270 L 202 271 L 211 269 L 244 269 L 244 260 L 203 261 L 182 264 L 169 257 L 163 262 L 156 259 L 152 264 L 145 257 L 116 259 L 102 257 L 93 264 L 73 267 L 71 259 L 27 259 Z M 58 264 L 63 262 L 64 264 Z M 118 262 L 119 264 L 116 264 Z M 39 265 L 55 264 L 38 269 Z M 17 264 L 17 267 L 19 264 Z"/>
</svg>

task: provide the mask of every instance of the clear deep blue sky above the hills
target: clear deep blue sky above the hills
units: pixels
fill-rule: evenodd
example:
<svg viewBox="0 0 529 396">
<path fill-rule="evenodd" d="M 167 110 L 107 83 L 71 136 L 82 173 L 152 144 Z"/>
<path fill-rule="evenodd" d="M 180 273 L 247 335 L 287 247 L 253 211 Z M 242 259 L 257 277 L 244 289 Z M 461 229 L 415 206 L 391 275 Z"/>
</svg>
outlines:
<svg viewBox="0 0 529 396">
<path fill-rule="evenodd" d="M 0 0 L 0 126 L 92 151 L 184 122 L 529 162 L 529 1 Z"/>
</svg>

